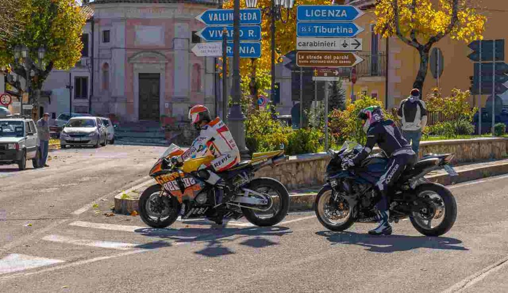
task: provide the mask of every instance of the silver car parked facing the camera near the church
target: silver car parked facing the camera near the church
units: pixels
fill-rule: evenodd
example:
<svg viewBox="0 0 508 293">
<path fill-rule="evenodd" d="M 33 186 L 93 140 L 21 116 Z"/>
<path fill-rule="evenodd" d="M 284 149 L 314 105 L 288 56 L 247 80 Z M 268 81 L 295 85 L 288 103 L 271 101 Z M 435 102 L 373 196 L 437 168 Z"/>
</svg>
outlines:
<svg viewBox="0 0 508 293">
<path fill-rule="evenodd" d="M 106 127 L 99 117 L 73 117 L 60 134 L 62 149 L 67 145 L 93 145 L 99 148 L 99 144 L 106 146 L 107 143 Z"/>
</svg>

